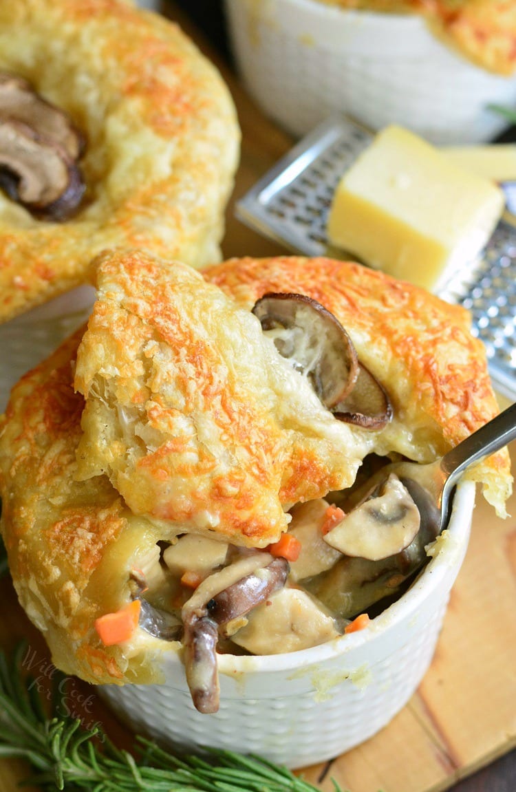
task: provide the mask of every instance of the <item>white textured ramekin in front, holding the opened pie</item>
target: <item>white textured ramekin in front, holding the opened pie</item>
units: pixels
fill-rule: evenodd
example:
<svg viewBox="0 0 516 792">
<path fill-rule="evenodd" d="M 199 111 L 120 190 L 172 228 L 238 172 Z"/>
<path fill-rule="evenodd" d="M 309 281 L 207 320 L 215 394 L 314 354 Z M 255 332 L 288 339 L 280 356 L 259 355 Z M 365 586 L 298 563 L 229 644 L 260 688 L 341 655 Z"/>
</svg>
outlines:
<svg viewBox="0 0 516 792">
<path fill-rule="evenodd" d="M 472 482 L 462 482 L 438 554 L 366 630 L 290 654 L 219 656 L 217 714 L 194 709 L 173 652 L 162 661 L 165 684 L 106 685 L 99 695 L 132 729 L 175 750 L 209 745 L 288 767 L 339 756 L 385 726 L 427 671 L 468 545 L 474 498 Z"/>
</svg>

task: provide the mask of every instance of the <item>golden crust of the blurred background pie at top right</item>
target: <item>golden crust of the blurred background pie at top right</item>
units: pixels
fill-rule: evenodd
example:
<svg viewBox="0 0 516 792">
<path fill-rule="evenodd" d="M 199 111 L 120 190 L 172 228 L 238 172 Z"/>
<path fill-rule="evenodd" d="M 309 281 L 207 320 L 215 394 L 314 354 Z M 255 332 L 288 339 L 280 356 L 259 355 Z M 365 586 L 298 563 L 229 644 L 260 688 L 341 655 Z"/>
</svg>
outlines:
<svg viewBox="0 0 516 792">
<path fill-rule="evenodd" d="M 516 70 L 516 6 L 507 0 L 318 0 L 344 9 L 421 13 L 436 36 L 478 66 Z"/>
</svg>

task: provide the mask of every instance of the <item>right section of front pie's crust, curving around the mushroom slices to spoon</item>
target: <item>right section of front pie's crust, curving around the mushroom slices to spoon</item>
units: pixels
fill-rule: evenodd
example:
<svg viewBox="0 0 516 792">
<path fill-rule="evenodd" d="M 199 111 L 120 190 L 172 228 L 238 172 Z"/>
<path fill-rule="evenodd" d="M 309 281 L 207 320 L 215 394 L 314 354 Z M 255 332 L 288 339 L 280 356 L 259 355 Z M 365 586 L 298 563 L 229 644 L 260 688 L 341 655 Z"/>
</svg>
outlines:
<svg viewBox="0 0 516 792">
<path fill-rule="evenodd" d="M 234 259 L 203 276 L 242 307 L 267 291 L 298 291 L 340 320 L 393 402 L 393 421 L 375 441 L 378 453 L 396 449 L 431 462 L 499 412 L 468 311 L 423 289 L 327 258 Z M 476 466 L 470 478 L 483 482 L 486 499 L 505 515 L 512 482 L 507 450 Z"/>
</svg>

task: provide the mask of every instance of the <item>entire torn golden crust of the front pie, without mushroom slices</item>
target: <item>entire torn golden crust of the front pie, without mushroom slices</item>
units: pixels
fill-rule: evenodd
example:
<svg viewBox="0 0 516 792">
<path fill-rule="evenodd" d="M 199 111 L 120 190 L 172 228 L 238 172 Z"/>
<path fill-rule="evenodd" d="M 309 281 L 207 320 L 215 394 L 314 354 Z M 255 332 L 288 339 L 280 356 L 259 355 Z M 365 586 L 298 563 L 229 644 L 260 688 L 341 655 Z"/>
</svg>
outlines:
<svg viewBox="0 0 516 792">
<path fill-rule="evenodd" d="M 130 251 L 101 257 L 97 279 L 89 328 L 21 379 L 0 419 L 13 582 L 55 664 L 85 680 L 156 681 L 157 657 L 178 649 L 142 629 L 104 646 L 93 627 L 131 598 L 131 570 L 158 542 L 200 530 L 262 546 L 283 508 L 346 485 L 371 451 L 431 461 L 498 412 L 467 312 L 360 265 L 247 258 L 203 280 Z M 260 336 L 250 309 L 267 291 L 340 320 L 389 393 L 385 428 L 316 405 Z M 507 451 L 470 476 L 503 514 Z"/>
</svg>

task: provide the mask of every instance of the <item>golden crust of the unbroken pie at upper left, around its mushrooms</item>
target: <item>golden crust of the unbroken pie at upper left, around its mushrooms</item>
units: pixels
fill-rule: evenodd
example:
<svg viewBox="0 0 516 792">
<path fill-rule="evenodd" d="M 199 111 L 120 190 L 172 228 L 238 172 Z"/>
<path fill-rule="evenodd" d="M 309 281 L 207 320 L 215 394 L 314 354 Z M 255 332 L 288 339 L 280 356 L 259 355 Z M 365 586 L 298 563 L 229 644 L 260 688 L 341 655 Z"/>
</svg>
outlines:
<svg viewBox="0 0 516 792">
<path fill-rule="evenodd" d="M 104 248 L 218 261 L 237 120 L 177 25 L 123 0 L 3 2 L 0 70 L 28 79 L 86 138 L 72 219 L 35 219 L 0 192 L 0 322 L 81 283 Z"/>
</svg>

